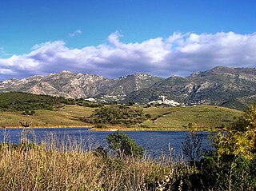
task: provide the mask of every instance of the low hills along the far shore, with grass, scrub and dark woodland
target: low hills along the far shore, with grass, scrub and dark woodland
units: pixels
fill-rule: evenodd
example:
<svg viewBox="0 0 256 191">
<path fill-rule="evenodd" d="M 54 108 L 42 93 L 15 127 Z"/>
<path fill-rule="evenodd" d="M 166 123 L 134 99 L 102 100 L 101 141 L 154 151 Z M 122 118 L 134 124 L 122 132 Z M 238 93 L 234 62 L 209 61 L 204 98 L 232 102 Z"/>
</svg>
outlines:
<svg viewBox="0 0 256 191">
<path fill-rule="evenodd" d="M 108 108 L 114 113 L 109 113 Z M 242 113 L 235 109 L 210 105 L 190 107 L 106 105 L 102 107 L 102 105 L 80 99 L 71 100 L 46 95 L 5 93 L 0 94 L 0 126 L 18 126 L 22 119 L 32 121 L 33 127 L 92 126 L 94 124 L 84 122 L 82 119 L 90 116 L 97 117 L 95 109 L 98 112 L 103 109 L 102 111 L 105 112 L 105 114 L 98 114 L 104 115 L 99 116 L 99 118 L 104 119 L 103 122 L 108 126 L 106 129 L 116 129 L 118 126 L 122 126 L 126 130 L 186 130 L 189 123 L 198 129 L 223 128 Z M 27 113 L 26 110 L 33 110 L 34 113 Z M 118 116 L 123 114 L 124 121 L 122 123 L 110 121 L 110 118 L 113 118 L 115 114 Z M 135 118 L 136 121 L 139 121 L 138 123 L 134 121 Z M 114 120 L 122 121 L 122 118 L 115 118 Z"/>
</svg>

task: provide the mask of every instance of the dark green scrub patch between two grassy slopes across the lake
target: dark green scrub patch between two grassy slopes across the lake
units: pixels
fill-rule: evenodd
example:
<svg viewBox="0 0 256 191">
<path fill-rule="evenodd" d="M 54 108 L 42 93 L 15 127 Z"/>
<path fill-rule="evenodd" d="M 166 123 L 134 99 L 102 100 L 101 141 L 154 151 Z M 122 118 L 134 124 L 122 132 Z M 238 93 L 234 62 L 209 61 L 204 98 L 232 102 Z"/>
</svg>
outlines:
<svg viewBox="0 0 256 191">
<path fill-rule="evenodd" d="M 124 125 L 129 127 L 142 123 L 149 118 L 139 106 L 107 105 L 95 109 L 90 117 L 82 118 L 82 121 L 90 122 L 97 127 L 104 125 Z"/>
</svg>

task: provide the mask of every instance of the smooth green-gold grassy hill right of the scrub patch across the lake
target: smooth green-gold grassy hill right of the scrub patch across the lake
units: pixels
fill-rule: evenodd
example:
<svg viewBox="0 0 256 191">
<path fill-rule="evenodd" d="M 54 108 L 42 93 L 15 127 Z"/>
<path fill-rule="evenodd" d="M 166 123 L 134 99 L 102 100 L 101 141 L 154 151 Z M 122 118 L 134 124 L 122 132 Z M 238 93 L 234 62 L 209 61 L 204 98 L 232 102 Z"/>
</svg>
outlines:
<svg viewBox="0 0 256 191">
<path fill-rule="evenodd" d="M 242 115 L 241 111 L 212 105 L 197 105 L 190 107 L 149 107 L 144 113 L 150 114 L 150 119 L 143 125 L 150 129 L 177 130 L 189 129 L 189 123 L 195 129 L 222 129 L 229 126 Z"/>
</svg>

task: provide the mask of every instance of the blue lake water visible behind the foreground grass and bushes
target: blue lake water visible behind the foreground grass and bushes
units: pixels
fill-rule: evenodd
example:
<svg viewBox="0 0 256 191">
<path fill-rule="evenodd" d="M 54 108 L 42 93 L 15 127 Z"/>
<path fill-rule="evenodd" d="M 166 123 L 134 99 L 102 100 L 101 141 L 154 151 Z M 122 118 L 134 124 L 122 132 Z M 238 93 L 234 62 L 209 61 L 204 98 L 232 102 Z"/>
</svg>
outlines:
<svg viewBox="0 0 256 191">
<path fill-rule="evenodd" d="M 6 131 L 6 133 L 5 133 Z M 77 141 L 83 143 L 85 147 L 95 148 L 97 145 L 102 145 L 106 148 L 106 136 L 113 132 L 106 131 L 90 131 L 88 128 L 40 128 L 29 130 L 29 138 L 31 141 L 46 141 L 50 137 L 58 138 L 65 142 Z M 186 131 L 127 131 L 130 138 L 133 138 L 138 145 L 142 145 L 146 149 L 146 153 L 150 156 L 157 157 L 162 152 L 168 154 L 168 143 L 173 148 L 174 153 L 178 156 L 182 153 L 182 141 L 189 132 Z M 202 133 L 202 147 L 209 149 L 210 145 L 207 141 L 209 133 Z M 0 129 L 0 141 L 6 141 L 18 144 L 22 137 L 22 129 Z"/>
</svg>

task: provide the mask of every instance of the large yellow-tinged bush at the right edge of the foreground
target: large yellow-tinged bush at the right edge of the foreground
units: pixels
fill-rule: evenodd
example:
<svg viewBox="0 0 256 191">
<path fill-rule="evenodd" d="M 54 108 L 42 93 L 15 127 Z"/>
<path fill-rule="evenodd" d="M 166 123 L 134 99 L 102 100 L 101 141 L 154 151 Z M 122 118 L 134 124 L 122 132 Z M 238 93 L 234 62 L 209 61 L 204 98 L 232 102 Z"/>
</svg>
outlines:
<svg viewBox="0 0 256 191">
<path fill-rule="evenodd" d="M 198 145 L 200 141 L 194 144 Z M 194 149 L 198 150 L 198 147 Z M 204 153 L 200 160 L 193 158 L 191 162 L 191 159 L 190 167 L 194 172 L 186 177 L 186 186 L 190 190 L 255 190 L 255 105 L 246 109 L 226 133 L 218 133 L 214 138 L 214 150 Z"/>
</svg>

